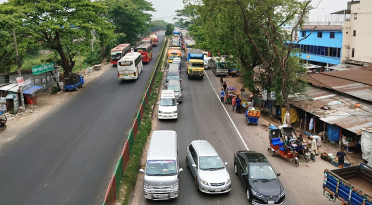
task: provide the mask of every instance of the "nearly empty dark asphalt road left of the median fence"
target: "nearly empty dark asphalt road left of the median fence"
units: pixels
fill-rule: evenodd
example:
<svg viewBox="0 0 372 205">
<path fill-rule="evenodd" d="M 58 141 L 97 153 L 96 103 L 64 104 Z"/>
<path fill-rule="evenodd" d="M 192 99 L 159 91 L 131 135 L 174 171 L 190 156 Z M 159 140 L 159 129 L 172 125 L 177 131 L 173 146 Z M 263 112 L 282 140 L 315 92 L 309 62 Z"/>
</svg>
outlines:
<svg viewBox="0 0 372 205">
<path fill-rule="evenodd" d="M 138 80 L 112 67 L 1 147 L 0 204 L 102 204 L 159 50 Z"/>
</svg>

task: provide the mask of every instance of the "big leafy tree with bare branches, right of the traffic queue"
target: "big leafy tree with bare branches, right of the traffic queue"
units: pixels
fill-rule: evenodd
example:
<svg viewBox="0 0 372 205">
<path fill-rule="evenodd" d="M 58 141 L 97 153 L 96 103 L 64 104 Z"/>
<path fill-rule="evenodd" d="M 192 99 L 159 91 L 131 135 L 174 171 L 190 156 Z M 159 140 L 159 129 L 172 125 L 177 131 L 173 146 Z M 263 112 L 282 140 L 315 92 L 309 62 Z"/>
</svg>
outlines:
<svg viewBox="0 0 372 205">
<path fill-rule="evenodd" d="M 306 82 L 297 74 L 302 67 L 293 33 L 304 24 L 312 7 L 311 0 L 200 0 L 186 1 L 197 6 L 202 27 L 197 33 L 213 52 L 238 58 L 243 66 L 245 84 L 253 83 L 252 69 L 264 69 L 261 86 L 274 91 L 286 108 L 290 125 L 289 95 L 303 93 Z M 296 18 L 290 33 L 282 26 Z"/>
</svg>

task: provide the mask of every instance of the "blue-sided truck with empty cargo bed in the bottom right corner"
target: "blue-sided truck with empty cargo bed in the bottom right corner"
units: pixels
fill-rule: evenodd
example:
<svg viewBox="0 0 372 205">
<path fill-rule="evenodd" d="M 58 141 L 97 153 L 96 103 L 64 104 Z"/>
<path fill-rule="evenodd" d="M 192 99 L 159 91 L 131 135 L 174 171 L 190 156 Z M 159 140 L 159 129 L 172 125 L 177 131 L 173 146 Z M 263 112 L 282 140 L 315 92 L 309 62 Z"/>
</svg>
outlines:
<svg viewBox="0 0 372 205">
<path fill-rule="evenodd" d="M 365 163 L 324 170 L 323 195 L 347 205 L 372 205 L 372 168 Z"/>
</svg>

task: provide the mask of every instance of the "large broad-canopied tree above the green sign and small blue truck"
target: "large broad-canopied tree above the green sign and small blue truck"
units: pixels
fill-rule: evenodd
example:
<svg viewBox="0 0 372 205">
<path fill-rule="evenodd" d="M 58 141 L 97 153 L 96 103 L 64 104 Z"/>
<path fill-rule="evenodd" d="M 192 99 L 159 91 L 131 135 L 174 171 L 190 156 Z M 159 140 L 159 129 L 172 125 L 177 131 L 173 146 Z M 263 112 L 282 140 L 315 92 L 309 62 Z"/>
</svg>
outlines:
<svg viewBox="0 0 372 205">
<path fill-rule="evenodd" d="M 93 37 L 102 45 L 112 37 L 114 26 L 103 17 L 106 12 L 103 4 L 90 0 L 9 0 L 0 7 L 0 13 L 22 16 L 24 34 L 58 52 L 65 75 Z"/>
</svg>

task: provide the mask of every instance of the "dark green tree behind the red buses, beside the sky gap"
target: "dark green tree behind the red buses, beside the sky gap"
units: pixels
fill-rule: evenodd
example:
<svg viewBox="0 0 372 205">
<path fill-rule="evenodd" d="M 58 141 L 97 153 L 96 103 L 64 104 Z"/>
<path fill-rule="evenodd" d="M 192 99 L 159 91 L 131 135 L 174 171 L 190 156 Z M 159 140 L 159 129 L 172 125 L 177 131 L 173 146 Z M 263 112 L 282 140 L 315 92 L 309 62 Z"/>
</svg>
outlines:
<svg viewBox="0 0 372 205">
<path fill-rule="evenodd" d="M 155 11 L 151 3 L 145 0 L 105 0 L 103 3 L 107 6 L 107 18 L 116 27 L 115 33 L 124 33 L 126 42 L 134 44 L 139 34 L 148 32 L 151 14 L 146 12 Z"/>
</svg>

